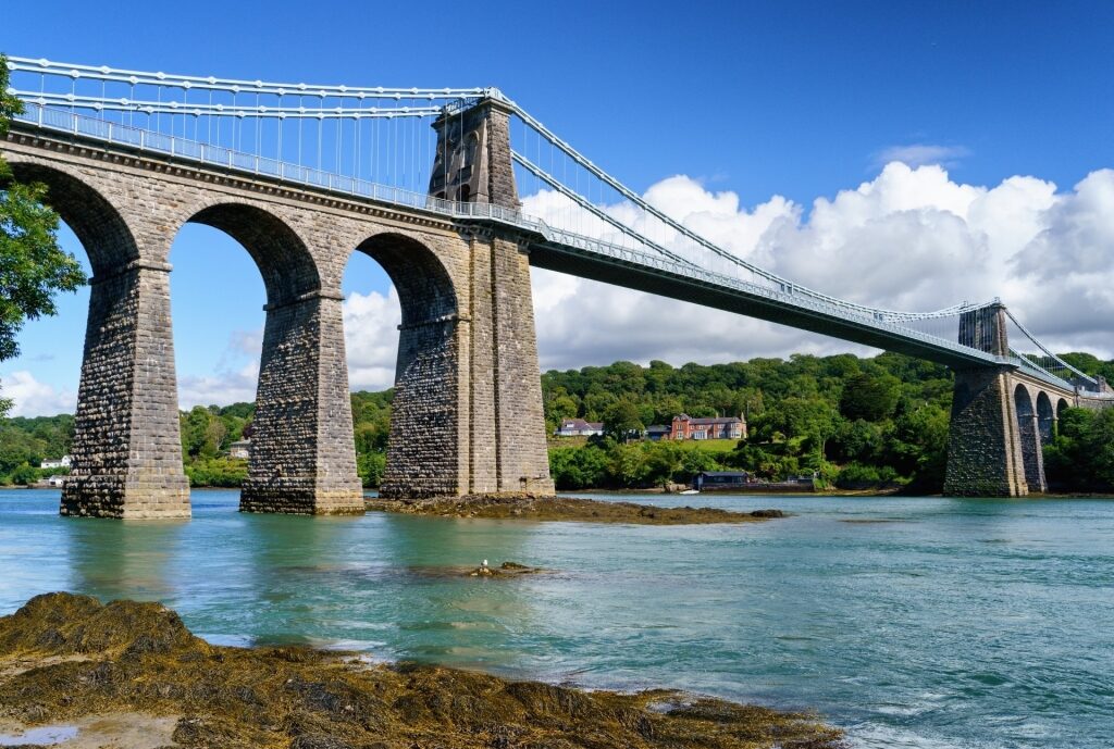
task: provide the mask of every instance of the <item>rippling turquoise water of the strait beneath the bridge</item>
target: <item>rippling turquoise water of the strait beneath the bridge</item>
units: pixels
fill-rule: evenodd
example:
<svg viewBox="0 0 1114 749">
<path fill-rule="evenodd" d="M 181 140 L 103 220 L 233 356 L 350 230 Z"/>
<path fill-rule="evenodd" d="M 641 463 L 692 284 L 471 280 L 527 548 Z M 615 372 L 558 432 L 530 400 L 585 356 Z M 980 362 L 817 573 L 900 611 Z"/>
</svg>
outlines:
<svg viewBox="0 0 1114 749">
<path fill-rule="evenodd" d="M 0 491 L 0 613 L 50 590 L 150 599 L 215 642 L 814 708 L 858 747 L 1114 746 L 1114 501 L 638 501 L 678 499 L 797 514 L 309 519 L 241 515 L 214 491 L 194 493 L 189 522 L 123 523 Z M 551 572 L 444 570 L 482 559 Z"/>
</svg>

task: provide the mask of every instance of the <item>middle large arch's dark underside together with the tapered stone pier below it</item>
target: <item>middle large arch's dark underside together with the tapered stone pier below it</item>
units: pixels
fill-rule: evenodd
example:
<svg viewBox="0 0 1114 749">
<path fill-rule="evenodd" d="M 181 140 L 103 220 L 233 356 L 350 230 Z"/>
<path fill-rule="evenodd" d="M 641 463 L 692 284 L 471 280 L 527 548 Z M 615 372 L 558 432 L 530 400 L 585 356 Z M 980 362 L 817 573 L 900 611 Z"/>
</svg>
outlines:
<svg viewBox="0 0 1114 749">
<path fill-rule="evenodd" d="M 192 206 L 252 257 L 267 303 L 255 392 L 245 512 L 362 512 L 344 376 L 341 298 L 322 288 L 317 262 L 284 217 L 250 201 Z"/>
</svg>

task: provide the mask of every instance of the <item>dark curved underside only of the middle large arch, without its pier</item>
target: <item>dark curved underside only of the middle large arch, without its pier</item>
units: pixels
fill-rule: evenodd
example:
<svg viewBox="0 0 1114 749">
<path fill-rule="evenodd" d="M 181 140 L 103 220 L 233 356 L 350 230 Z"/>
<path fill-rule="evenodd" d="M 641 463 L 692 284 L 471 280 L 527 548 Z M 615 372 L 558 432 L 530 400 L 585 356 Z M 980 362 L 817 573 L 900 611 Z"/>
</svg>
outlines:
<svg viewBox="0 0 1114 749">
<path fill-rule="evenodd" d="M 245 203 L 217 203 L 188 219 L 224 231 L 255 260 L 267 292 L 267 306 L 321 289 L 313 255 L 294 229 L 268 210 Z"/>
</svg>

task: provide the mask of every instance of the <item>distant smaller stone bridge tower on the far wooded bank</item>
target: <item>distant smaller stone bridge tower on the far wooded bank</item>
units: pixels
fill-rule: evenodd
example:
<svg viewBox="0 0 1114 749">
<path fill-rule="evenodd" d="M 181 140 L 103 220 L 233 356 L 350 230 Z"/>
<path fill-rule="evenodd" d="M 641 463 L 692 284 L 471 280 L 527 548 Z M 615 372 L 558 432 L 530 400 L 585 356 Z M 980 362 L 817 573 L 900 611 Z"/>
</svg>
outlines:
<svg viewBox="0 0 1114 749">
<path fill-rule="evenodd" d="M 1006 307 L 996 303 L 964 313 L 959 343 L 1007 356 Z M 955 375 L 944 493 L 1025 496 L 1030 482 L 1036 482 L 1033 489 L 1042 486 L 1043 467 L 1026 472 L 1026 465 L 1040 465 L 1036 415 L 1030 411 L 1026 424 L 1018 422 L 1010 367 L 956 369 Z"/>
</svg>

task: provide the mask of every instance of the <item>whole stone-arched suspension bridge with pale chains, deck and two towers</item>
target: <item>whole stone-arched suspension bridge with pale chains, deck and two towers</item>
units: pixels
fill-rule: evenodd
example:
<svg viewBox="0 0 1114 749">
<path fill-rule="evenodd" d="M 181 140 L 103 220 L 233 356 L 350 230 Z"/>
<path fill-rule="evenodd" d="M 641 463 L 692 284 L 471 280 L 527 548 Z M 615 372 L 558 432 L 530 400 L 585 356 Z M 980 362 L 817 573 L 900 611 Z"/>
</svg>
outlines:
<svg viewBox="0 0 1114 749">
<path fill-rule="evenodd" d="M 881 309 L 749 263 L 498 89 L 9 69 L 23 111 L 0 152 L 50 187 L 95 274 L 65 513 L 188 514 L 165 279 L 187 221 L 238 239 L 267 287 L 245 510 L 362 506 L 339 311 L 351 252 L 402 302 L 385 494 L 551 492 L 529 266 L 951 367 L 954 494 L 1043 491 L 1058 412 L 1112 400 L 999 299 Z"/>
</svg>

